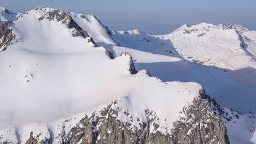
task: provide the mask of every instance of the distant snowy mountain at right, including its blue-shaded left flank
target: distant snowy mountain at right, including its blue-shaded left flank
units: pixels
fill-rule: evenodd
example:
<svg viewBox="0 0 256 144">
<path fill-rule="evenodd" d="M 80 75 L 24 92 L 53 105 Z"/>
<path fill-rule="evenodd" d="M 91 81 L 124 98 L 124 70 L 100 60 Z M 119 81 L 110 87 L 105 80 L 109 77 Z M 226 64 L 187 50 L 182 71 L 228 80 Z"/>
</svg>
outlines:
<svg viewBox="0 0 256 144">
<path fill-rule="evenodd" d="M 113 37 L 124 47 L 216 67 L 241 83 L 256 87 L 256 45 L 247 43 L 235 29 L 200 23 L 166 35 L 114 34 Z"/>
</svg>

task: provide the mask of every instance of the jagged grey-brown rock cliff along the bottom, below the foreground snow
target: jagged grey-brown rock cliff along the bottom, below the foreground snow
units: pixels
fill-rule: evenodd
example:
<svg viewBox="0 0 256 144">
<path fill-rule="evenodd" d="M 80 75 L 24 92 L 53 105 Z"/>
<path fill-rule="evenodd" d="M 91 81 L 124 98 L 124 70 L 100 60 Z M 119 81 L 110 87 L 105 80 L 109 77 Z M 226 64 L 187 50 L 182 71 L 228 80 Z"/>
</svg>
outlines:
<svg viewBox="0 0 256 144">
<path fill-rule="evenodd" d="M 171 133 L 168 128 L 158 124 L 159 117 L 154 111 L 144 110 L 147 121 L 132 117 L 125 107 L 121 107 L 122 100 L 112 101 L 100 111 L 95 111 L 91 116 L 85 115 L 80 122 L 68 133 L 58 134 L 50 139 L 39 140 L 33 133 L 27 144 L 52 143 L 229 143 L 226 128 L 219 116 L 225 117 L 224 110 L 200 91 L 200 97 L 183 108 L 182 117 L 173 123 Z M 119 115 L 127 116 L 131 122 L 138 122 L 138 127 L 131 123 L 121 122 Z M 67 120 L 68 121 L 68 120 Z M 71 121 L 71 120 L 69 120 Z M 159 130 L 160 129 L 160 130 Z M 166 131 L 162 131 L 166 129 Z M 1 141 L 0 141 L 1 142 Z"/>
</svg>

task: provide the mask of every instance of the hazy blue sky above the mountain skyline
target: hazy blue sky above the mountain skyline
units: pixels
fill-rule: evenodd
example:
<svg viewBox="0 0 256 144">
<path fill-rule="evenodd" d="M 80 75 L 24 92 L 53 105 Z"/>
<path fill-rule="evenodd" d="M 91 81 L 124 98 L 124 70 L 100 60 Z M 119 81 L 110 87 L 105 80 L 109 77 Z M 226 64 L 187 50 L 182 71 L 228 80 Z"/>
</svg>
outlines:
<svg viewBox="0 0 256 144">
<path fill-rule="evenodd" d="M 16 13 L 51 7 L 83 14 L 94 14 L 113 30 L 140 29 L 166 34 L 188 23 L 240 23 L 256 30 L 255 0 L 0 0 L 0 5 Z"/>
</svg>

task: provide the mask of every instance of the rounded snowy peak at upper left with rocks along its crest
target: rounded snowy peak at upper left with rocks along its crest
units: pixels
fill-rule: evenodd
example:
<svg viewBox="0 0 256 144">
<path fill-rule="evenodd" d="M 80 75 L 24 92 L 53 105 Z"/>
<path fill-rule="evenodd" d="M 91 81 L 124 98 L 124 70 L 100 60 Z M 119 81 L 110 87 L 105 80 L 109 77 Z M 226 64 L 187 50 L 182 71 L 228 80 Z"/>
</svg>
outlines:
<svg viewBox="0 0 256 144">
<path fill-rule="evenodd" d="M 19 14 L 18 19 L 10 23 L 6 29 L 9 29 L 16 41 L 10 41 L 6 36 L 5 41 L 1 42 L 9 41 L 2 50 L 11 43 L 13 45 L 9 46 L 10 50 L 25 49 L 44 53 L 82 52 L 85 50 L 81 47 L 82 45 L 96 46 L 94 40 L 89 38 L 88 32 L 80 27 L 68 13 L 57 9 L 38 7 Z M 72 40 L 74 44 L 65 43 L 70 39 L 77 42 Z M 61 42 L 57 43 L 57 41 Z M 79 43 L 81 46 L 75 46 Z"/>
</svg>

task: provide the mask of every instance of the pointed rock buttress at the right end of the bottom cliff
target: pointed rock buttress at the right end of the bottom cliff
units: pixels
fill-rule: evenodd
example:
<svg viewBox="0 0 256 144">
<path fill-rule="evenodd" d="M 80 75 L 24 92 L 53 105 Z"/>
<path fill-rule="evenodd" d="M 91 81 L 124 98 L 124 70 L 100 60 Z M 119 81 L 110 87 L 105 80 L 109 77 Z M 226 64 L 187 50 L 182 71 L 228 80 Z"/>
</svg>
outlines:
<svg viewBox="0 0 256 144">
<path fill-rule="evenodd" d="M 200 94 L 201 98 L 184 107 L 184 117 L 174 123 L 173 143 L 229 143 L 223 121 L 213 112 L 223 110 L 203 89 Z"/>
</svg>

